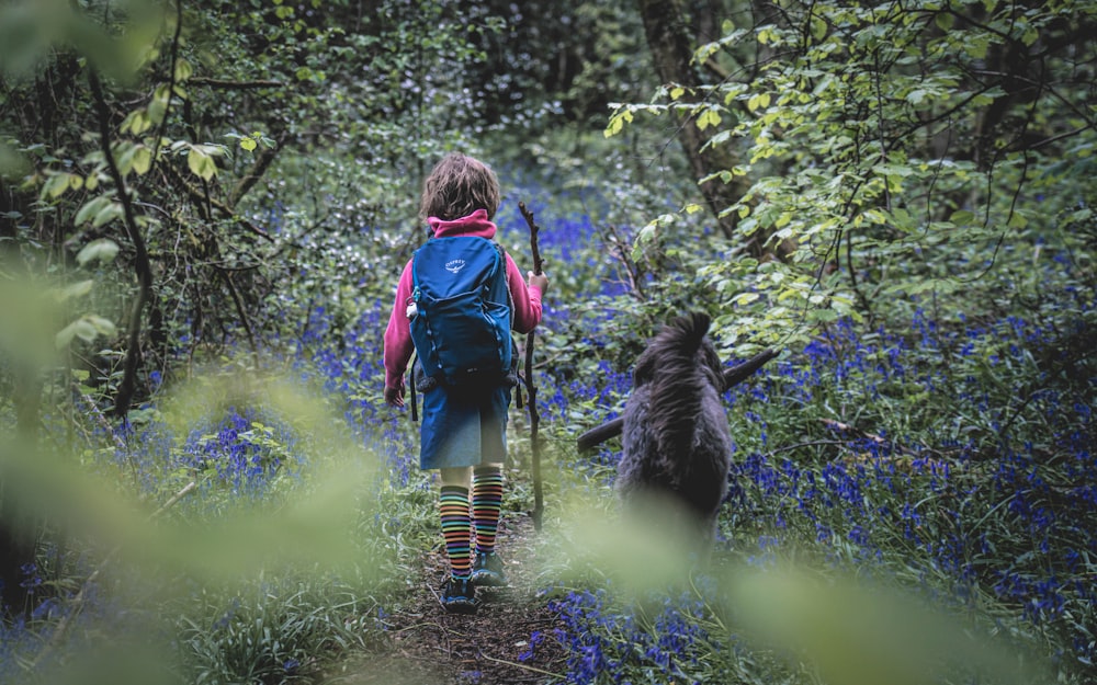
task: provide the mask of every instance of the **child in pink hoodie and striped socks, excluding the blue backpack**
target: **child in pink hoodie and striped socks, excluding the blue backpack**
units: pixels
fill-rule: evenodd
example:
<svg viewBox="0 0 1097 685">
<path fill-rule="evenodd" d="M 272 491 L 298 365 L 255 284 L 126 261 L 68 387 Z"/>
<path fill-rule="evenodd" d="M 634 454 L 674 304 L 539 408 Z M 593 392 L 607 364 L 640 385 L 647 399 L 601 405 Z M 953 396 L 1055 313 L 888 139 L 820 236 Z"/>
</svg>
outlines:
<svg viewBox="0 0 1097 685">
<path fill-rule="evenodd" d="M 453 153 L 443 158 L 423 183 L 419 215 L 427 221 L 431 238 L 493 239 L 496 226 L 491 217 L 499 207 L 499 182 L 491 169 Z M 548 278 L 531 272 L 527 283 L 510 255 L 504 256 L 511 326 L 519 333 L 528 333 L 541 321 L 541 298 Z M 411 292 L 409 261 L 400 274 L 385 330 L 385 401 L 394 407 L 404 406 L 404 372 L 414 350 L 408 322 Z M 472 613 L 476 609 L 474 585 L 506 584 L 502 562 L 495 552 L 495 536 L 502 501 L 507 411 L 513 376 L 488 384 L 448 386 L 427 378 L 417 364 L 411 381 L 422 391 L 419 466 L 440 470 L 439 513 L 450 560 L 442 605 L 448 612 Z M 474 532 L 476 555 L 471 559 Z"/>
</svg>

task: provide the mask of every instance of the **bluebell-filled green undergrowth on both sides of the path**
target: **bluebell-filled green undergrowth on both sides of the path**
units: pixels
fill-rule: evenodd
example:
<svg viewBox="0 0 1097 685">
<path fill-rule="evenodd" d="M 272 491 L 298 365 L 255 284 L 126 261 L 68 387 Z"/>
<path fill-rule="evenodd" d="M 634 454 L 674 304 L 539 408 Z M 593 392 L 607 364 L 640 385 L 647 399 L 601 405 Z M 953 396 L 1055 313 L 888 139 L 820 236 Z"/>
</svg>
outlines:
<svg viewBox="0 0 1097 685">
<path fill-rule="evenodd" d="M 1055 260 L 1031 289 L 993 307 L 903 302 L 872 323 L 836 320 L 805 347 L 782 351 L 725 396 L 735 453 L 715 570 L 686 587 L 636 597 L 610 570 L 579 570 L 576 535 L 559 509 L 583 500 L 597 518 L 615 515 L 617 444 L 580 455 L 574 439 L 618 415 L 627 396 L 630 359 L 645 327 L 623 326 L 622 317 L 654 329 L 667 306 L 622 294 L 625 255 L 611 263 L 585 258 L 610 240 L 592 219 L 557 218 L 554 229 L 544 242 L 548 259 L 581 264 L 570 279 L 554 281 L 558 295 L 538 338 L 545 544 L 556 548 L 536 578 L 563 628 L 530 636 L 525 658 L 547 640 L 567 654 L 566 672 L 546 682 L 823 682 L 825 669 L 810 650 L 755 641 L 743 597 L 730 585 L 739 573 L 776 573 L 790 562 L 812 569 L 824 585 L 852 573 L 909 593 L 962 617 L 973 635 L 996 636 L 1045 662 L 1041 673 L 1060 682 L 1097 676 L 1097 311 L 1087 262 Z M 138 597 L 150 626 L 145 637 L 162 638 L 163 663 L 176 664 L 160 673 L 162 682 L 316 682 L 349 652 L 383 649 L 384 623 L 375 618 L 421 591 L 418 560 L 438 544 L 434 487 L 417 468 L 417 426 L 381 401 L 388 307 L 367 296 L 354 300 L 353 316 L 310 308 L 299 334 L 279 343 L 282 357 L 248 367 L 289 378 L 297 403 L 279 403 L 261 386 L 224 397 L 200 388 L 197 398 L 214 401 L 173 419 L 169 398 L 188 388 L 178 380 L 116 431 L 102 432 L 89 413 L 89 425 L 99 427 L 77 454 L 145 510 L 193 481 L 195 490 L 158 521 L 197 537 L 258 512 L 259 521 L 275 522 L 275 535 L 262 538 L 272 553 L 283 545 L 310 553 L 315 528 L 294 529 L 308 521 L 294 517 L 295 507 L 304 503 L 305 514 L 316 514 L 307 506 L 328 492 L 325 468 L 346 469 L 354 481 L 347 491 L 353 517 L 328 526 L 346 534 L 338 555 L 312 566 L 299 557 L 283 564 L 276 555 L 225 568 L 214 561 L 212 571 L 193 560 L 171 567 L 174 558 L 154 555 L 129 571 L 82 540 L 45 545 L 39 563 L 26 569 L 33 610 L 3 628 L 0 680 L 46 677 L 48 664 L 30 664 L 60 621 L 76 619 L 63 652 L 75 659 L 125 623 L 134 613 L 126 602 Z M 241 364 L 230 359 L 213 376 L 231 387 Z M 532 506 L 527 429 L 516 410 L 509 514 Z M 88 584 L 77 604 L 88 576 L 112 561 L 113 585 Z M 143 590 L 117 592 L 131 581 Z M 834 653 L 842 653 L 839 647 Z M 960 669 L 938 677 L 979 676 Z"/>
</svg>

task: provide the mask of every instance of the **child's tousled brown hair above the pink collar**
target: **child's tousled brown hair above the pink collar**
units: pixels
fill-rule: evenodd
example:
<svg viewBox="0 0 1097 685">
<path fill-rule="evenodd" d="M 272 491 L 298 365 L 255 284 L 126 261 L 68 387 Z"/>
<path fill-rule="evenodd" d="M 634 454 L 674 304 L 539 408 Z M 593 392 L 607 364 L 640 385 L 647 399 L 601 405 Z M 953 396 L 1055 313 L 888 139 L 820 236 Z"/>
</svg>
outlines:
<svg viewBox="0 0 1097 685">
<path fill-rule="evenodd" d="M 422 184 L 419 218 L 460 219 L 477 209 L 487 218 L 499 208 L 499 180 L 484 162 L 452 152 L 434 164 Z"/>
</svg>

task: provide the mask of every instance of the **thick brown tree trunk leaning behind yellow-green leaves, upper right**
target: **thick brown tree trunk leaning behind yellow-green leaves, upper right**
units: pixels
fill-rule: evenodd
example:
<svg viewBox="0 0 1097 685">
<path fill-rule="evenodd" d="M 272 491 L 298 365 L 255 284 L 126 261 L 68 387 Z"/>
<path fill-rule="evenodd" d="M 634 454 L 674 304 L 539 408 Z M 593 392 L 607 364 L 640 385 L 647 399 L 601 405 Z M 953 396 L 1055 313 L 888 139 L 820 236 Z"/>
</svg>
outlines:
<svg viewBox="0 0 1097 685">
<path fill-rule="evenodd" d="M 700 100 L 698 89 L 704 85 L 704 82 L 691 64 L 695 46 L 686 23 L 681 0 L 637 0 L 637 7 L 644 19 L 647 44 L 659 79 L 664 83 L 675 83 L 685 88 L 683 101 L 688 102 L 689 98 Z M 738 202 L 749 184 L 744 176 L 735 176 L 730 183 L 720 180 L 701 183 L 702 179 L 730 170 L 738 163 L 736 155 L 727 146 L 711 147 L 702 152 L 711 133 L 701 130 L 697 126 L 697 119 L 689 117 L 682 122 L 678 140 L 717 226 L 725 236 L 734 238 L 738 216 L 732 213 L 721 217 L 720 213 Z M 743 248 L 748 254 L 762 255 L 765 246 L 758 233 L 742 239 Z"/>
</svg>

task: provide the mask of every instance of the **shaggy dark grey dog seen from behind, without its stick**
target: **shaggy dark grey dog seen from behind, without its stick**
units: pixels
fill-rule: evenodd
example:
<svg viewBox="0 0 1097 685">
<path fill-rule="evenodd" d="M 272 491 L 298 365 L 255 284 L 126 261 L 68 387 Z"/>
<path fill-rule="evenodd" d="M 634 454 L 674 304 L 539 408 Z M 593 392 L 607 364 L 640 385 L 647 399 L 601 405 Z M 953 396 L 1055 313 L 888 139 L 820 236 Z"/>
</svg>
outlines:
<svg viewBox="0 0 1097 685">
<path fill-rule="evenodd" d="M 705 335 L 709 323 L 702 312 L 679 317 L 636 359 L 617 479 L 626 513 L 661 523 L 677 520 L 702 550 L 711 549 L 732 454 L 720 399 L 722 367 Z M 649 511 L 653 501 L 669 511 Z"/>
</svg>

